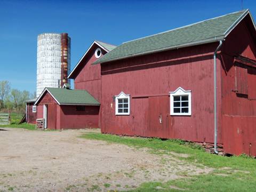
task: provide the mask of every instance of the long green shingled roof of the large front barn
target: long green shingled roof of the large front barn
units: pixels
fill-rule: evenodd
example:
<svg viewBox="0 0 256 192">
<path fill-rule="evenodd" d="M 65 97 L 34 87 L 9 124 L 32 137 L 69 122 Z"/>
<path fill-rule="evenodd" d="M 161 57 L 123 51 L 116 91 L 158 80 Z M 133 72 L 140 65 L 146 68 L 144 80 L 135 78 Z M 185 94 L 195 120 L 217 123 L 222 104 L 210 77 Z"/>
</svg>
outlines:
<svg viewBox="0 0 256 192">
<path fill-rule="evenodd" d="M 93 64 L 175 49 L 182 46 L 218 41 L 225 38 L 225 35 L 247 13 L 249 13 L 249 10 L 238 11 L 156 35 L 135 39 L 117 46 Z"/>
</svg>

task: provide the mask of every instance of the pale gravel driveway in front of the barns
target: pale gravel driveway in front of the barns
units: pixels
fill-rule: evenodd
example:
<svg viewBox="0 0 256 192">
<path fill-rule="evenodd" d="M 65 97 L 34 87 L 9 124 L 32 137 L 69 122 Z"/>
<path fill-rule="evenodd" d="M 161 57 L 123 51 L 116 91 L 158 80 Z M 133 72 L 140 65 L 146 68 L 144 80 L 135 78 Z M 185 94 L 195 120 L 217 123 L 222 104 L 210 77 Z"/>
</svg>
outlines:
<svg viewBox="0 0 256 192">
<path fill-rule="evenodd" d="M 127 190 L 211 171 L 171 155 L 78 137 L 86 132 L 99 130 L 1 129 L 0 191 Z"/>
</svg>

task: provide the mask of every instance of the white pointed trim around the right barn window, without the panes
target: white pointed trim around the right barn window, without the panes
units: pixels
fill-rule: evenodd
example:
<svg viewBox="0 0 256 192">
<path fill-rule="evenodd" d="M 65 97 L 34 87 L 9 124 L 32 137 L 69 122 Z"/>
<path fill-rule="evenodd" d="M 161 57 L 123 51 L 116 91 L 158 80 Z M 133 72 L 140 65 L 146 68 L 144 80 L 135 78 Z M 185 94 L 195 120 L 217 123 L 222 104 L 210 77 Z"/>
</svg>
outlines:
<svg viewBox="0 0 256 192">
<path fill-rule="evenodd" d="M 181 87 L 177 90 L 170 93 L 170 115 L 182 115 L 182 116 L 190 116 L 191 115 L 191 90 L 185 91 Z M 173 109 L 173 96 L 182 96 L 188 95 L 188 113 L 174 113 Z"/>
</svg>

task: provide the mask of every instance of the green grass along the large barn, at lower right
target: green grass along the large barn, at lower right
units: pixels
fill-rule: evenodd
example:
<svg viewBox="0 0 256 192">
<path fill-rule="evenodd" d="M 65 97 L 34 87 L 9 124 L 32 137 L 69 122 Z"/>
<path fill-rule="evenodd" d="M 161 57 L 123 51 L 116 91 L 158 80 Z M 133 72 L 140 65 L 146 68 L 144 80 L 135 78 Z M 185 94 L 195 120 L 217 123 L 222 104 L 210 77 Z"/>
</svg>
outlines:
<svg viewBox="0 0 256 192">
<path fill-rule="evenodd" d="M 242 156 L 225 157 L 205 153 L 201 147 L 180 140 L 118 137 L 110 134 L 88 133 L 82 138 L 119 143 L 135 148 L 148 148 L 158 155 L 188 154 L 177 158 L 196 166 L 205 165 L 214 170 L 194 177 L 181 173 L 182 179 L 168 182 L 146 182 L 131 191 L 255 191 L 256 159 Z"/>
</svg>

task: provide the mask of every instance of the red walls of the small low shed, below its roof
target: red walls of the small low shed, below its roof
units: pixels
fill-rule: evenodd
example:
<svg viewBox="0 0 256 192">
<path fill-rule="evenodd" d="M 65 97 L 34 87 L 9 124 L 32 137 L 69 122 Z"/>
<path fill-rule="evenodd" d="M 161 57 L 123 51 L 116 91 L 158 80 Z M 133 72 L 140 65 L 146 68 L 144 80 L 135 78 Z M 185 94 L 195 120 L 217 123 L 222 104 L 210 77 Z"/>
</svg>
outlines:
<svg viewBox="0 0 256 192">
<path fill-rule="evenodd" d="M 47 105 L 48 129 L 83 129 L 99 127 L 99 106 L 85 106 L 77 111 L 77 106 L 60 106 L 49 92 L 45 92 L 38 101 L 38 107 Z"/>
</svg>

